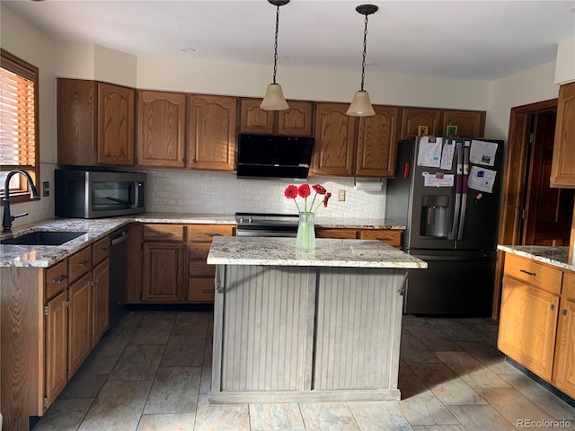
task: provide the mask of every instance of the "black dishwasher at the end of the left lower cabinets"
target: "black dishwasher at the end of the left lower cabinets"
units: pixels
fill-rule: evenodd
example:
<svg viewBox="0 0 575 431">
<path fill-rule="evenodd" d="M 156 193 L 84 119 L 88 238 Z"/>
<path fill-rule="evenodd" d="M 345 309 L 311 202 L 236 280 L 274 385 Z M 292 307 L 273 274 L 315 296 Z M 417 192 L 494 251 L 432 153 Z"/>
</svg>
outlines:
<svg viewBox="0 0 575 431">
<path fill-rule="evenodd" d="M 126 286 L 126 244 L 128 228 L 110 234 L 109 328 L 122 317 Z"/>
</svg>

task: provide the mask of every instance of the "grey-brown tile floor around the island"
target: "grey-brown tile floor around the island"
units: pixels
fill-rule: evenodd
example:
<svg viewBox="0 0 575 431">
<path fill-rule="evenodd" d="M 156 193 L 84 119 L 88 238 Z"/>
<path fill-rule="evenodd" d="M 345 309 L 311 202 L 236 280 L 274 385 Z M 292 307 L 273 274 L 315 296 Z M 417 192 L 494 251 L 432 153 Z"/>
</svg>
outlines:
<svg viewBox="0 0 575 431">
<path fill-rule="evenodd" d="M 404 316 L 401 401 L 208 404 L 211 317 L 127 312 L 33 430 L 575 430 L 575 408 L 505 362 L 487 319 Z"/>
</svg>

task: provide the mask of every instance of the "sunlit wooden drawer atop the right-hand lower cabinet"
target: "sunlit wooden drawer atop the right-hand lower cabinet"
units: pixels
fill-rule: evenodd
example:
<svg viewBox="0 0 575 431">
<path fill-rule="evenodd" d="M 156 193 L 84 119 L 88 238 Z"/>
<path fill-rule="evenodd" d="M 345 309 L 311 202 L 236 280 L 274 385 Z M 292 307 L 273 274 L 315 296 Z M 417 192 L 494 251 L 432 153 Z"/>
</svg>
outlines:
<svg viewBox="0 0 575 431">
<path fill-rule="evenodd" d="M 545 267 L 535 262 L 535 260 L 506 253 L 505 275 L 514 277 L 531 286 L 539 287 L 550 294 L 561 294 L 562 271 Z"/>
</svg>

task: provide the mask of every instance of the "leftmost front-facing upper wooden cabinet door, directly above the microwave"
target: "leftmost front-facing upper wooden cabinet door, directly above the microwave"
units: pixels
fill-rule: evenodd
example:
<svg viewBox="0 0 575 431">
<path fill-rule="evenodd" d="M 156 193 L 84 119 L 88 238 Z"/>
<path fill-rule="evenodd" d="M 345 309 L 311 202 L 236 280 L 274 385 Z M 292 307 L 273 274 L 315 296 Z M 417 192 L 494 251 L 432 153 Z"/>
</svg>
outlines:
<svg viewBox="0 0 575 431">
<path fill-rule="evenodd" d="M 131 88 L 98 83 L 99 164 L 134 164 L 134 101 Z"/>
</svg>

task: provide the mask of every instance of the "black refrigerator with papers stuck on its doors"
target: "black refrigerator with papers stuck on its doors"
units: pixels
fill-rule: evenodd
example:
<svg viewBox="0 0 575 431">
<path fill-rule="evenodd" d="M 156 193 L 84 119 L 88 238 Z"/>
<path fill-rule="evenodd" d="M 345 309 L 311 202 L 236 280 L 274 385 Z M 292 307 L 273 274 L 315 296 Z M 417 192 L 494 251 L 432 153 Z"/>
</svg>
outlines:
<svg viewBox="0 0 575 431">
<path fill-rule="evenodd" d="M 398 144 L 385 217 L 404 224 L 404 251 L 428 262 L 407 279 L 404 312 L 491 316 L 503 142 L 420 136 Z"/>
</svg>

